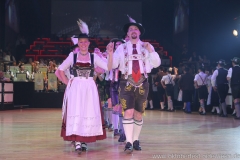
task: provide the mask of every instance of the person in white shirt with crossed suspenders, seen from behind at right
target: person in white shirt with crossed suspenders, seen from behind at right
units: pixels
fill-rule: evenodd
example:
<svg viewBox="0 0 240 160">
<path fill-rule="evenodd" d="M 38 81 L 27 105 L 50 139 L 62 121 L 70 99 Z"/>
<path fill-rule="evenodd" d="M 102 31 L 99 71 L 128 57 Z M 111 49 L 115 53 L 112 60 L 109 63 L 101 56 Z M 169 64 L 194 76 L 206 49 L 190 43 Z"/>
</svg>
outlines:
<svg viewBox="0 0 240 160">
<path fill-rule="evenodd" d="M 202 110 L 202 112 L 200 112 L 200 115 L 206 115 L 204 101 L 208 98 L 207 77 L 208 75 L 204 73 L 204 69 L 199 68 L 198 74 L 196 74 L 194 78 L 194 84 L 195 88 L 198 91 L 198 99 L 200 102 L 200 108 Z"/>
</svg>

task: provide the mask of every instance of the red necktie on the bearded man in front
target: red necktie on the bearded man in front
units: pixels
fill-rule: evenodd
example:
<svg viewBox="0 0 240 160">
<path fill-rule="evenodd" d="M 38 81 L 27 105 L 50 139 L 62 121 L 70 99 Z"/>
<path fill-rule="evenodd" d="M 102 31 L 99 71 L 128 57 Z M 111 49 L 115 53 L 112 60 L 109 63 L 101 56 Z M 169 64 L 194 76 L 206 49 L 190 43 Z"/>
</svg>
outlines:
<svg viewBox="0 0 240 160">
<path fill-rule="evenodd" d="M 138 54 L 137 53 L 137 49 L 136 49 L 136 44 L 133 44 L 133 52 L 132 54 Z M 132 77 L 133 80 L 137 83 L 138 80 L 141 77 L 141 73 L 140 73 L 140 67 L 139 67 L 139 62 L 138 60 L 133 60 L 132 61 Z"/>
</svg>

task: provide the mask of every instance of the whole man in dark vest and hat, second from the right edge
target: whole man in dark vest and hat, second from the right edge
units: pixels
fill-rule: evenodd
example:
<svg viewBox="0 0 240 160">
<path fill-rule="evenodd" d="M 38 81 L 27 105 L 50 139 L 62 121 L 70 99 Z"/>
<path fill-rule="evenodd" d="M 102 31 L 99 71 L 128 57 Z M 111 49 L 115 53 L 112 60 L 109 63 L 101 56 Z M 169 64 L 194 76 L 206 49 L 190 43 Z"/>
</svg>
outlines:
<svg viewBox="0 0 240 160">
<path fill-rule="evenodd" d="M 228 94 L 228 81 L 226 79 L 228 71 L 224 68 L 225 61 L 219 60 L 218 66 L 211 77 L 211 83 L 213 86 L 213 92 L 217 92 L 220 102 L 221 102 L 221 109 L 222 113 L 220 113 L 220 117 L 227 117 L 227 105 L 225 99 Z"/>
</svg>

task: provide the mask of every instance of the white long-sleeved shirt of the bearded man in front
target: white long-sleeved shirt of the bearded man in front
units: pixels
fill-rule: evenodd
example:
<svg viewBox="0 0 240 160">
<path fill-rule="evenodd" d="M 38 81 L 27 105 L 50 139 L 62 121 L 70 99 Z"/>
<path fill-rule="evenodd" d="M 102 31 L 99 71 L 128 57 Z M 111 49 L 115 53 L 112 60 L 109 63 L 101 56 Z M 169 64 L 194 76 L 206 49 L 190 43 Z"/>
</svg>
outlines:
<svg viewBox="0 0 240 160">
<path fill-rule="evenodd" d="M 136 49 L 138 54 L 141 53 L 141 45 L 142 41 L 138 41 L 136 44 Z M 131 41 L 126 42 L 128 55 L 132 55 L 133 47 Z M 116 51 L 113 54 L 113 68 L 117 68 L 119 66 L 119 70 L 122 74 L 125 74 L 125 60 L 124 60 L 124 44 L 118 46 Z M 153 47 L 152 47 L 153 48 Z M 146 49 L 144 49 L 144 53 L 146 54 L 146 73 L 150 73 L 152 68 L 157 68 L 161 64 L 161 59 L 157 52 L 154 51 L 149 53 Z M 143 71 L 143 61 L 139 60 L 140 72 L 144 73 Z M 132 74 L 132 61 L 128 61 L 128 75 Z"/>
</svg>

